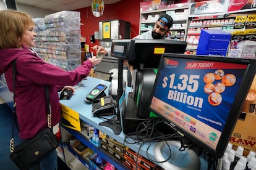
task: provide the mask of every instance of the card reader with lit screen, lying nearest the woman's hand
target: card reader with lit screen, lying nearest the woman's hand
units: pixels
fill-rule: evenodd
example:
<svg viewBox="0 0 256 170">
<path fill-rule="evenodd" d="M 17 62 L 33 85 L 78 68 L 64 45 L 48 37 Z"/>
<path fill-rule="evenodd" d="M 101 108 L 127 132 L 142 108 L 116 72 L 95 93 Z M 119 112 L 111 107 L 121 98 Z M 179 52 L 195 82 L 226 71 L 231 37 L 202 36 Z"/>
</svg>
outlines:
<svg viewBox="0 0 256 170">
<path fill-rule="evenodd" d="M 87 94 L 84 101 L 87 103 L 93 103 L 94 100 L 106 96 L 104 91 L 107 87 L 108 86 L 106 86 L 105 84 L 98 84 L 92 89 L 92 91 L 89 92 L 89 94 Z"/>
</svg>

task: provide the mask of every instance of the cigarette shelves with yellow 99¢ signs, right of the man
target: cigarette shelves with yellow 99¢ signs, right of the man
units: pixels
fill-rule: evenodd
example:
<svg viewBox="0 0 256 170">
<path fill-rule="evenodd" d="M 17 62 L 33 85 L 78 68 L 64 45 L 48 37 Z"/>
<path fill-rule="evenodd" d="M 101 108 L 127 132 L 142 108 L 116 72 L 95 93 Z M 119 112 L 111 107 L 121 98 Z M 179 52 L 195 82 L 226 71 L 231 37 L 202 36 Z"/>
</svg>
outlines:
<svg viewBox="0 0 256 170">
<path fill-rule="evenodd" d="M 202 6 L 202 9 L 197 9 L 197 5 Z M 203 8 L 203 6 L 206 5 L 208 7 Z M 252 18 L 255 18 L 255 11 L 241 10 L 226 12 L 224 9 L 226 9 L 228 5 L 230 4 L 226 2 L 221 4 L 219 1 L 190 2 L 186 36 L 186 54 L 196 53 L 201 30 L 223 30 L 228 33 L 233 33 L 236 30 L 246 30 L 247 22 L 254 25 L 255 20 Z M 250 20 L 248 20 L 249 18 Z"/>
</svg>

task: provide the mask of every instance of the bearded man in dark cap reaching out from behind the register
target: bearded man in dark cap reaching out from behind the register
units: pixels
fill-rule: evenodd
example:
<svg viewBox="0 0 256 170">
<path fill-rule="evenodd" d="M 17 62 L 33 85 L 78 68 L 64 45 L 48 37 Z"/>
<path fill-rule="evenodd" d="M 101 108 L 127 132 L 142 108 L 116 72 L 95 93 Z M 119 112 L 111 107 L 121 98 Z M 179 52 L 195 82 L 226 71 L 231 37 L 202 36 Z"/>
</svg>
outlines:
<svg viewBox="0 0 256 170">
<path fill-rule="evenodd" d="M 164 14 L 161 15 L 156 21 L 152 30 L 148 30 L 146 33 L 135 36 L 133 39 L 164 39 L 169 34 L 169 29 L 173 26 L 173 18 Z M 110 54 L 111 48 L 105 49 L 102 46 L 93 46 L 96 54 L 108 55 Z"/>
</svg>

